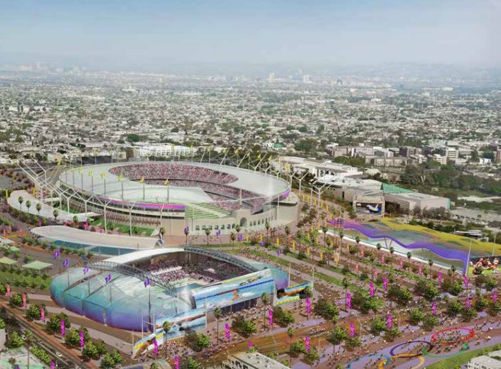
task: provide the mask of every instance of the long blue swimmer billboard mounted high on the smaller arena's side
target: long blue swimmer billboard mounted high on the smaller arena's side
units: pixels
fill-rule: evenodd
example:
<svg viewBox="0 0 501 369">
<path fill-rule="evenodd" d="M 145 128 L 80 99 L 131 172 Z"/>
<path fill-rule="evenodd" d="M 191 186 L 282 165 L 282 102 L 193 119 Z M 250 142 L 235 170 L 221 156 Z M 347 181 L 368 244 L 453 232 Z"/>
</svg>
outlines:
<svg viewBox="0 0 501 369">
<path fill-rule="evenodd" d="M 213 309 L 255 299 L 261 297 L 264 292 L 272 294 L 274 289 L 275 280 L 271 270 L 264 269 L 242 277 L 197 287 L 191 292 L 195 299 L 195 307 Z"/>
</svg>

